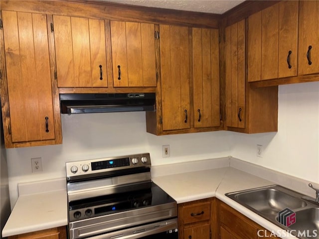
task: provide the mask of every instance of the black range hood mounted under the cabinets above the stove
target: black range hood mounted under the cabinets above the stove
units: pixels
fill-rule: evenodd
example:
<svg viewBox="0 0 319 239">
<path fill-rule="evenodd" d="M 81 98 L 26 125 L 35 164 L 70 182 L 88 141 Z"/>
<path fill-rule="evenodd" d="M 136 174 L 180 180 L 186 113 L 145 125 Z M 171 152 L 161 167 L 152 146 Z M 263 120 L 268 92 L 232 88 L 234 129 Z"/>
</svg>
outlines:
<svg viewBox="0 0 319 239">
<path fill-rule="evenodd" d="M 155 111 L 155 93 L 60 94 L 62 114 Z"/>
</svg>

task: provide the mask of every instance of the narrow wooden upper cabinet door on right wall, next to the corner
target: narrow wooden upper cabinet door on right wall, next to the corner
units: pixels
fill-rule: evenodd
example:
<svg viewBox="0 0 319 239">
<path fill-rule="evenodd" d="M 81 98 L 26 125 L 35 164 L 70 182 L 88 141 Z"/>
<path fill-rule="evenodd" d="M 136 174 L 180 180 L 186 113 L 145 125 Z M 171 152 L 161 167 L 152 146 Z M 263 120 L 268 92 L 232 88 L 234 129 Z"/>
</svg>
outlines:
<svg viewBox="0 0 319 239">
<path fill-rule="evenodd" d="M 245 127 L 245 20 L 226 27 L 226 125 Z"/>
</svg>

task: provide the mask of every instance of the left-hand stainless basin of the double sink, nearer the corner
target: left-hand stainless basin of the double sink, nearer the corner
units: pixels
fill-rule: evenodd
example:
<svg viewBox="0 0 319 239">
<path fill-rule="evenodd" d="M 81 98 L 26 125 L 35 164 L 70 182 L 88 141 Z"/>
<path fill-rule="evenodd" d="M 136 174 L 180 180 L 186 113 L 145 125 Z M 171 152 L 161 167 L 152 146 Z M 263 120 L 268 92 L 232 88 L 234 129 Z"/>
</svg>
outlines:
<svg viewBox="0 0 319 239">
<path fill-rule="evenodd" d="M 235 194 L 235 199 L 260 213 L 278 214 L 285 208 L 296 209 L 307 206 L 307 203 L 295 198 L 278 188 L 262 188 Z"/>
</svg>

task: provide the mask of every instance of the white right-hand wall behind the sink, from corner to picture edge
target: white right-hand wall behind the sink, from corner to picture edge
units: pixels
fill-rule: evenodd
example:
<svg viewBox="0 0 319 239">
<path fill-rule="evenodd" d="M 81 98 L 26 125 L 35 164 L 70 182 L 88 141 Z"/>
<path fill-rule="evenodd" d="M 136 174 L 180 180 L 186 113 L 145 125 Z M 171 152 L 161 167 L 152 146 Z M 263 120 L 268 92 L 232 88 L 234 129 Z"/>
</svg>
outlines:
<svg viewBox="0 0 319 239">
<path fill-rule="evenodd" d="M 278 108 L 277 133 L 233 133 L 230 154 L 319 183 L 319 82 L 280 86 Z"/>
</svg>

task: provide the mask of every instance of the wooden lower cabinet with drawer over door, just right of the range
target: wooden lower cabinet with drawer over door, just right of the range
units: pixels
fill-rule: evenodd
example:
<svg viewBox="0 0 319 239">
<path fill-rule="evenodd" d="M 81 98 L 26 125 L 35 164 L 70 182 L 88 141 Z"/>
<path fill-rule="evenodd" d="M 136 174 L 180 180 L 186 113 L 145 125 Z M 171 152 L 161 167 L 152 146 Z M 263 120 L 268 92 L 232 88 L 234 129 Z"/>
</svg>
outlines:
<svg viewBox="0 0 319 239">
<path fill-rule="evenodd" d="M 213 199 L 178 204 L 178 238 L 210 239 L 213 231 Z"/>
</svg>

